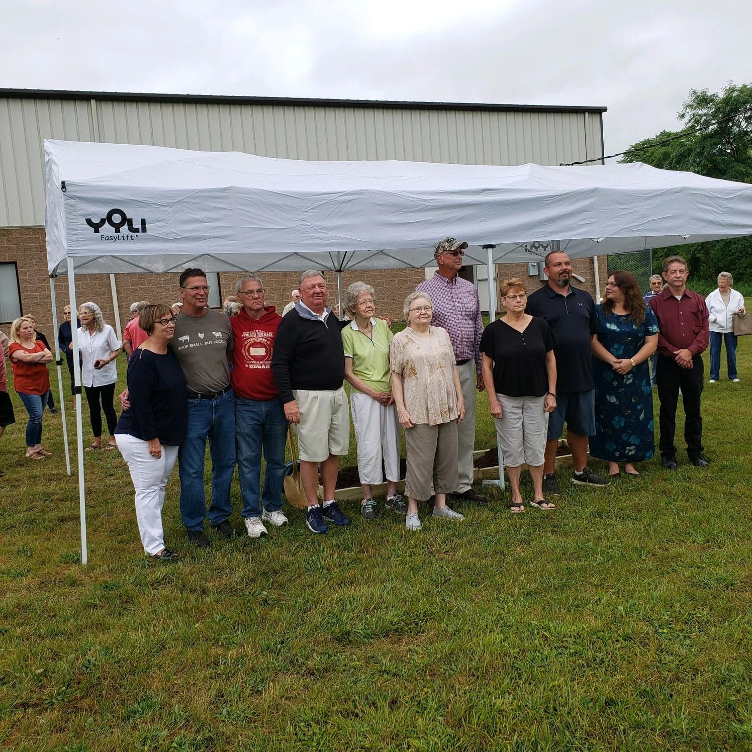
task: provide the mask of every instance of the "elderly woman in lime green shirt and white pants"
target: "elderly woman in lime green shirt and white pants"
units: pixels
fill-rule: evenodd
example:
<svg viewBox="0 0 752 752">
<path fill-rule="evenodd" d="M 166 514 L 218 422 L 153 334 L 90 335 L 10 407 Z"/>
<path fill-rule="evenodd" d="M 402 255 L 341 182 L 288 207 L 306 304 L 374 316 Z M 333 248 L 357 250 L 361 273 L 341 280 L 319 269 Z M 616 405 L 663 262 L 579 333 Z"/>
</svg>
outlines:
<svg viewBox="0 0 752 752">
<path fill-rule="evenodd" d="M 347 287 L 344 308 L 350 324 L 342 329 L 344 378 L 353 387 L 350 411 L 358 443 L 358 475 L 363 489 L 360 516 L 376 517 L 373 486 L 387 475 L 387 509 L 405 514 L 408 505 L 397 493 L 402 432 L 392 396 L 389 349 L 394 335 L 383 319 L 374 318 L 374 289 L 365 282 Z"/>
</svg>

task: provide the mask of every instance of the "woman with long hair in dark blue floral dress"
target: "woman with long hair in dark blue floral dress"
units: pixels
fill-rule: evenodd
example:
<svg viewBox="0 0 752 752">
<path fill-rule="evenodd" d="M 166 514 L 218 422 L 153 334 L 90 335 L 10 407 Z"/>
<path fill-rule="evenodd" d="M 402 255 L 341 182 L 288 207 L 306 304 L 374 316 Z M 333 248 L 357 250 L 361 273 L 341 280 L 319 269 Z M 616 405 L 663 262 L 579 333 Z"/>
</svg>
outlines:
<svg viewBox="0 0 752 752">
<path fill-rule="evenodd" d="M 608 275 L 606 298 L 596 305 L 593 336 L 596 383 L 596 435 L 590 456 L 608 461 L 608 475 L 639 475 L 635 462 L 650 459 L 653 443 L 653 390 L 647 361 L 658 346 L 658 321 L 646 306 L 629 271 Z"/>
</svg>

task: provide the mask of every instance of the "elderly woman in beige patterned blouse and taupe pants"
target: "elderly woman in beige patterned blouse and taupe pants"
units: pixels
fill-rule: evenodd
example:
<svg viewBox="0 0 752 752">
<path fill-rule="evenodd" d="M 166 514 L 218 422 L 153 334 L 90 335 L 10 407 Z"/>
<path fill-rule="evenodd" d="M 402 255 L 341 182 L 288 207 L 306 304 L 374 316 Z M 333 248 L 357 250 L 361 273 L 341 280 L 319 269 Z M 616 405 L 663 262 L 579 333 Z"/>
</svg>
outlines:
<svg viewBox="0 0 752 752">
<path fill-rule="evenodd" d="M 428 294 L 411 293 L 402 310 L 409 326 L 394 335 L 389 358 L 408 459 L 405 526 L 415 531 L 420 530 L 418 502 L 431 498 L 432 485 L 433 516 L 465 519 L 447 507 L 447 493 L 459 483 L 457 423 L 465 417 L 465 401 L 449 335 L 446 329 L 431 326 L 433 305 Z"/>
</svg>

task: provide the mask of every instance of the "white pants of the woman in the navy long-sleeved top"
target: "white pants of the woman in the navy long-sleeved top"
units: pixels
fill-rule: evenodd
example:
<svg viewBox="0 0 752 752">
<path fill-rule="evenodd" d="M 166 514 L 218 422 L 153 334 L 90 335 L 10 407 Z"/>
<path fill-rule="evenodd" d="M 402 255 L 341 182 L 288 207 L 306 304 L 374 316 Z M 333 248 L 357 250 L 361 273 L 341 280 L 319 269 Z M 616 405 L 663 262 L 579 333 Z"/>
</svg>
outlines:
<svg viewBox="0 0 752 752">
<path fill-rule="evenodd" d="M 146 553 L 159 553 L 165 547 L 162 529 L 162 506 L 165 487 L 177 459 L 177 447 L 162 444 L 162 456 L 149 453 L 149 443 L 124 433 L 115 434 L 117 448 L 128 462 L 131 480 L 136 491 L 136 520 L 141 543 Z"/>
</svg>

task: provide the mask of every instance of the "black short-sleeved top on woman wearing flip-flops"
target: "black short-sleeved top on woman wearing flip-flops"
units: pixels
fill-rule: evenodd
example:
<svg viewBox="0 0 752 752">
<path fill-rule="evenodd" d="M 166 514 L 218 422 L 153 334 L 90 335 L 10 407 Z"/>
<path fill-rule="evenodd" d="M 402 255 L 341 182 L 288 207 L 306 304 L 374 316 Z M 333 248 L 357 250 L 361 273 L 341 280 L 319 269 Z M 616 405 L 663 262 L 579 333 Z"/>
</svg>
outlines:
<svg viewBox="0 0 752 752">
<path fill-rule="evenodd" d="M 550 326 L 532 317 L 523 332 L 504 320 L 490 323 L 481 337 L 481 353 L 493 360 L 493 387 L 508 397 L 542 397 L 548 391 L 546 353 L 556 347 Z"/>
</svg>

